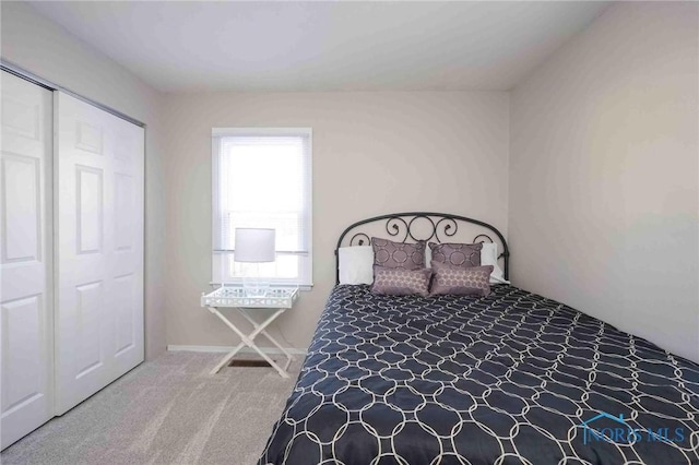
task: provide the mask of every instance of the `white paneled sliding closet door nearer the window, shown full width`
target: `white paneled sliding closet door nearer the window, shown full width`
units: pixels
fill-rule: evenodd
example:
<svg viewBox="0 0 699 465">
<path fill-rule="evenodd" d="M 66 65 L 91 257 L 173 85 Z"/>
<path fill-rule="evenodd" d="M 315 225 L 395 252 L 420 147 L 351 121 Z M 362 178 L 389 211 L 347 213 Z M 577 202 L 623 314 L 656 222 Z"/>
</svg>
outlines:
<svg viewBox="0 0 699 465">
<path fill-rule="evenodd" d="M 143 129 L 55 93 L 56 414 L 143 361 Z"/>
</svg>

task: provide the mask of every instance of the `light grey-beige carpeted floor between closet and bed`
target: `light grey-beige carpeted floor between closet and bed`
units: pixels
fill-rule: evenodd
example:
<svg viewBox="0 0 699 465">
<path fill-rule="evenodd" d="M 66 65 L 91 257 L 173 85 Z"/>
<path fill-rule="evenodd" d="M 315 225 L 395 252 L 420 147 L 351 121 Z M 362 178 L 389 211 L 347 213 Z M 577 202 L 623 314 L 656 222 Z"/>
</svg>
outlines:
<svg viewBox="0 0 699 465">
<path fill-rule="evenodd" d="M 298 375 L 168 353 L 8 448 L 10 464 L 254 464 Z"/>
</svg>

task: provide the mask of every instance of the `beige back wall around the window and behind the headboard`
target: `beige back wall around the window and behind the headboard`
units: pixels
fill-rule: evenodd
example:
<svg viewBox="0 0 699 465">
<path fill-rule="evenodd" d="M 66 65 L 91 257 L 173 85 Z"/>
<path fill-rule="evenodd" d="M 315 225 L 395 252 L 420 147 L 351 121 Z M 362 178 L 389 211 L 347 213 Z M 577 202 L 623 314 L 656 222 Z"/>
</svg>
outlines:
<svg viewBox="0 0 699 465">
<path fill-rule="evenodd" d="M 211 281 L 211 128 L 313 129 L 313 281 L 276 330 L 308 346 L 334 284 L 333 249 L 354 220 L 446 211 L 507 233 L 507 93 L 168 96 L 167 342 L 232 345 L 199 307 Z"/>
</svg>

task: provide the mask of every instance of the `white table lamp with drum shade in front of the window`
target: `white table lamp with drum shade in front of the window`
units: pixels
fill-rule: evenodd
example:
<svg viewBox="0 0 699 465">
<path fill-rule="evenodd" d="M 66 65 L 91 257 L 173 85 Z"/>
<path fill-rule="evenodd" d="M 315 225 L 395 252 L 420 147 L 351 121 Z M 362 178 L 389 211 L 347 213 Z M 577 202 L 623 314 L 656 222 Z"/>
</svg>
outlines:
<svg viewBox="0 0 699 465">
<path fill-rule="evenodd" d="M 269 228 L 236 228 L 234 261 L 250 263 L 242 267 L 242 289 L 250 297 L 263 297 L 270 283 L 260 276 L 260 263 L 276 259 L 275 230 Z"/>
</svg>

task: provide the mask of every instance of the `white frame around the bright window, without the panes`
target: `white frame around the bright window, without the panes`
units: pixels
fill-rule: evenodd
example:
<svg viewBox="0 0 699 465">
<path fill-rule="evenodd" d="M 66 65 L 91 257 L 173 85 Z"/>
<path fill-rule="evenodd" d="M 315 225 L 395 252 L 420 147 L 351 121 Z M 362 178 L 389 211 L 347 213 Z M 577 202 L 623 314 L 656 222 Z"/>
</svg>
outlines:
<svg viewBox="0 0 699 465">
<path fill-rule="evenodd" d="M 215 250 L 216 247 L 216 235 L 220 234 L 218 230 L 218 159 L 220 159 L 220 144 L 217 143 L 217 138 L 221 136 L 289 136 L 289 135 L 298 135 L 305 136 L 308 140 L 308 192 L 306 192 L 306 208 L 308 211 L 308 215 L 306 216 L 306 225 L 305 230 L 307 234 L 308 241 L 308 253 L 306 255 L 306 260 L 299 261 L 299 277 L 298 278 L 269 278 L 269 282 L 272 285 L 276 286 L 298 286 L 304 290 L 310 290 L 313 286 L 313 237 L 312 237 L 312 216 L 313 216 L 313 204 L 312 204 L 312 160 L 313 160 L 313 133 L 312 128 L 212 128 L 211 130 L 211 159 L 212 159 L 212 285 L 222 285 L 222 284 L 234 284 L 239 285 L 242 284 L 242 278 L 237 276 L 232 276 L 229 273 L 226 273 L 223 276 L 222 271 L 227 270 L 226 264 L 223 262 L 224 260 L 230 259 L 230 252 Z"/>
</svg>

